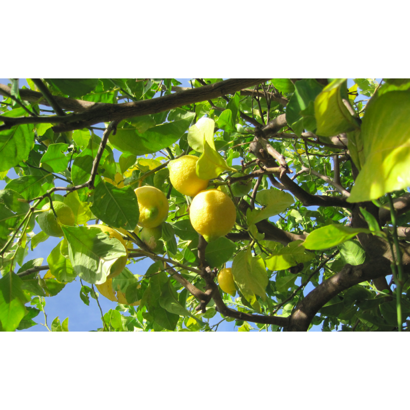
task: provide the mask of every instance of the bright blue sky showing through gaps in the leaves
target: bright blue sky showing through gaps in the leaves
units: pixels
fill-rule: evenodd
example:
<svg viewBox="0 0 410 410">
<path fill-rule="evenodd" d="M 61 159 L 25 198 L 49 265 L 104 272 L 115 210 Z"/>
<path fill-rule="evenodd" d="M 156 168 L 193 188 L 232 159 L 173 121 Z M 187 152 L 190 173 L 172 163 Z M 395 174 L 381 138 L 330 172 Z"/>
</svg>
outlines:
<svg viewBox="0 0 410 410">
<path fill-rule="evenodd" d="M 178 79 L 182 83 L 182 87 L 190 87 L 190 83 L 188 79 Z M 381 79 L 377 79 L 378 82 L 380 82 Z M 0 79 L 1 84 L 8 84 L 9 80 L 5 78 Z M 348 87 L 351 87 L 354 84 L 353 80 L 350 79 L 348 80 Z M 28 87 L 26 80 L 25 79 L 20 79 L 20 88 L 25 85 Z M 361 99 L 362 96 L 360 96 Z M 100 125 L 103 126 L 104 125 Z M 95 132 L 97 135 L 101 136 L 102 131 L 96 131 Z M 120 156 L 120 152 L 117 150 L 114 150 L 114 156 L 115 160 L 118 161 L 118 158 Z M 239 164 L 239 161 L 238 161 Z M 8 174 L 9 178 L 15 178 L 16 174 L 13 170 L 11 170 Z M 5 181 L 0 180 L 0 189 L 4 189 L 6 186 Z M 316 209 L 316 207 L 309 207 L 309 209 Z M 271 218 L 271 220 L 275 221 L 277 220 L 276 218 Z M 92 223 L 92 222 L 90 222 Z M 38 225 L 36 224 L 36 227 L 34 228 L 34 233 L 38 233 L 40 231 Z M 35 258 L 44 258 L 43 264 L 47 263 L 47 256 L 50 254 L 51 250 L 57 245 L 57 243 L 60 241 L 60 238 L 53 238 L 50 237 L 47 239 L 47 241 L 40 243 L 34 251 L 29 250 L 28 256 L 25 258 L 25 261 L 27 262 L 28 260 L 35 259 Z M 141 260 L 138 263 L 131 263 L 127 265 L 127 268 L 130 269 L 130 271 L 133 274 L 144 274 L 148 267 L 152 264 L 153 262 L 149 259 Z M 229 262 L 227 263 L 227 266 L 230 267 L 232 263 Z M 44 272 L 43 272 L 44 273 Z M 300 278 L 297 279 L 296 283 L 300 284 Z M 87 283 L 84 283 L 87 284 Z M 47 297 L 46 298 L 46 306 L 45 306 L 45 311 L 47 314 L 47 322 L 49 327 L 51 326 L 51 322 L 55 317 L 59 317 L 60 321 L 62 322 L 66 317 L 69 317 L 69 330 L 70 331 L 90 331 L 90 330 L 96 330 L 98 327 L 102 327 L 102 322 L 101 322 L 101 317 L 100 317 L 100 312 L 98 309 L 98 305 L 94 299 L 90 297 L 90 305 L 87 306 L 81 299 L 79 298 L 79 292 L 81 288 L 81 283 L 79 281 L 79 278 L 77 277 L 76 280 L 74 280 L 71 283 L 68 283 L 65 288 L 56 296 L 54 297 Z M 311 290 L 313 289 L 313 285 L 309 284 L 306 286 L 304 290 L 304 294 L 308 294 Z M 99 303 L 101 305 L 101 309 L 103 310 L 103 313 L 108 312 L 110 309 L 115 309 L 117 306 L 116 302 L 112 302 L 108 300 L 107 298 L 100 296 L 99 297 Z M 214 318 L 211 319 L 211 324 L 218 323 L 221 320 L 221 317 L 219 314 L 217 314 Z M 36 318 L 34 318 L 35 322 L 38 323 L 44 323 L 44 316 L 42 313 L 40 313 Z M 252 323 L 250 323 L 252 325 Z M 256 324 L 254 325 L 256 327 Z M 318 326 L 313 326 L 311 331 L 320 331 L 321 330 L 321 325 Z M 222 322 L 219 327 L 218 331 L 234 331 L 234 322 Z M 24 332 L 48 332 L 45 326 L 42 326 L 41 324 L 35 325 L 30 327 L 27 330 L 24 330 Z"/>
</svg>

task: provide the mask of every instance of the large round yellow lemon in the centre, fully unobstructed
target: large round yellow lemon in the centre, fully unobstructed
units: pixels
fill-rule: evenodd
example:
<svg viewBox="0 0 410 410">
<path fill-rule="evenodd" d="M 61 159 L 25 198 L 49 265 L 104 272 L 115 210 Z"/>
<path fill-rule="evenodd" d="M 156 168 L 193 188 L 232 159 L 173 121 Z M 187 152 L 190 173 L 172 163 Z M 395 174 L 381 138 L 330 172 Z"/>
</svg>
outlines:
<svg viewBox="0 0 410 410">
<path fill-rule="evenodd" d="M 210 242 L 231 232 L 236 209 L 226 193 L 210 189 L 200 192 L 192 200 L 189 218 L 195 231 Z"/>
</svg>

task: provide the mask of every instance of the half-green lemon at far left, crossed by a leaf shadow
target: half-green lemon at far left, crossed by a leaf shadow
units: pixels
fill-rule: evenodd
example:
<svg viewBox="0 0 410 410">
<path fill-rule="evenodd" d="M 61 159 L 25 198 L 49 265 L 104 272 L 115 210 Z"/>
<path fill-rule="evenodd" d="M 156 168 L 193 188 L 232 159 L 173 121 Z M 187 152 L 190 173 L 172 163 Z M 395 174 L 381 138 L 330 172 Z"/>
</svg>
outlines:
<svg viewBox="0 0 410 410">
<path fill-rule="evenodd" d="M 44 212 L 38 215 L 37 222 L 43 232 L 48 236 L 60 237 L 63 236 L 61 225 L 69 225 L 70 227 L 73 227 L 75 218 L 71 208 L 64 202 L 53 201 L 53 208 L 57 214 L 57 218 L 50 208 L 50 203 L 47 203 L 42 208 Z"/>
</svg>

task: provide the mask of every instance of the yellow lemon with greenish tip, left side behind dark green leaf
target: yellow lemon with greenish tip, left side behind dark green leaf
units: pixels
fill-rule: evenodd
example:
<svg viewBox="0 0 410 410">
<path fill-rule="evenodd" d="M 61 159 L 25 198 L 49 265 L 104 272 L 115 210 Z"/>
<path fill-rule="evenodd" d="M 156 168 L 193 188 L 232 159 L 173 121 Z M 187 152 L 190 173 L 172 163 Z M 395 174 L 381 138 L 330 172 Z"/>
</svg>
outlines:
<svg viewBox="0 0 410 410">
<path fill-rule="evenodd" d="M 162 191 L 146 185 L 137 188 L 135 194 L 138 198 L 139 220 L 142 228 L 158 227 L 168 217 L 168 199 Z"/>
</svg>

